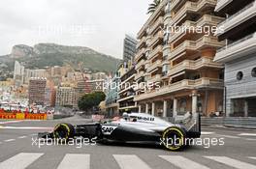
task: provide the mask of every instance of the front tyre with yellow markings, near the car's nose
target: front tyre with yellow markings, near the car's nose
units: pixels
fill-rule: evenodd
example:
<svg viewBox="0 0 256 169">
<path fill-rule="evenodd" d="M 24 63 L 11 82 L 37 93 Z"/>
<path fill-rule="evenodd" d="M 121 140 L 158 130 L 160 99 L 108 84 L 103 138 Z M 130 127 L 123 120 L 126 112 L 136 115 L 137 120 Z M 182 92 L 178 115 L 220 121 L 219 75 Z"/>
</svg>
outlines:
<svg viewBox="0 0 256 169">
<path fill-rule="evenodd" d="M 53 137 L 60 139 L 60 141 L 66 141 L 74 138 L 75 128 L 71 124 L 58 124 L 54 127 Z"/>
</svg>

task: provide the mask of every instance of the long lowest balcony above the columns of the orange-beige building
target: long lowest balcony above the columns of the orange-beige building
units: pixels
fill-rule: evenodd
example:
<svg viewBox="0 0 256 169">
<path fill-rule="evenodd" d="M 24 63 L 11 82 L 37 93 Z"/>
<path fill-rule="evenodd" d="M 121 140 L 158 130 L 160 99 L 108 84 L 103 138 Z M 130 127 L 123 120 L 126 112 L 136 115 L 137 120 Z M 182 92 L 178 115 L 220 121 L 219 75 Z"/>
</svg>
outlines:
<svg viewBox="0 0 256 169">
<path fill-rule="evenodd" d="M 212 79 L 203 77 L 197 80 L 184 79 L 168 86 L 162 87 L 155 91 L 149 91 L 142 95 L 136 96 L 135 101 L 143 99 L 152 99 L 155 97 L 161 97 L 163 95 L 169 95 L 181 90 L 194 90 L 199 88 L 223 88 L 223 80 Z"/>
</svg>

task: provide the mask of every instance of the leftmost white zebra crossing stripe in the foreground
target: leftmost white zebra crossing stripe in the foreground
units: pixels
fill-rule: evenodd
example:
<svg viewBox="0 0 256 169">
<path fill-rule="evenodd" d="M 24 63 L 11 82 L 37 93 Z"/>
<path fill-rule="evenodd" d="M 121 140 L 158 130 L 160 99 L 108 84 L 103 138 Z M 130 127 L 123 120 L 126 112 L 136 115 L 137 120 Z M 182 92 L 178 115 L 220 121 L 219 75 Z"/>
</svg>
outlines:
<svg viewBox="0 0 256 169">
<path fill-rule="evenodd" d="M 15 155 L 15 156 L 1 162 L 0 168 L 25 169 L 42 155 L 44 155 L 44 154 L 21 153 L 21 154 Z"/>
</svg>

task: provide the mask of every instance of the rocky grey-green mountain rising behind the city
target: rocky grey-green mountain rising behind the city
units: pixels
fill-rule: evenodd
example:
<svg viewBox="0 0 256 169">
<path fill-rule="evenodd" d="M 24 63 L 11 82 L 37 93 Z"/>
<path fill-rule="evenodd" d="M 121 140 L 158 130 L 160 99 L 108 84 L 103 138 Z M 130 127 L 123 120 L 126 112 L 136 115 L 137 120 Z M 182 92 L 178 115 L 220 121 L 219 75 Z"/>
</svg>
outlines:
<svg viewBox="0 0 256 169">
<path fill-rule="evenodd" d="M 64 66 L 67 63 L 78 65 L 92 71 L 114 71 L 119 59 L 97 52 L 83 46 L 67 46 L 55 43 L 38 43 L 33 47 L 18 44 L 12 53 L 0 56 L 0 64 L 6 64 L 14 70 L 15 61 L 19 61 L 25 68 L 44 69 L 46 67 Z"/>
</svg>

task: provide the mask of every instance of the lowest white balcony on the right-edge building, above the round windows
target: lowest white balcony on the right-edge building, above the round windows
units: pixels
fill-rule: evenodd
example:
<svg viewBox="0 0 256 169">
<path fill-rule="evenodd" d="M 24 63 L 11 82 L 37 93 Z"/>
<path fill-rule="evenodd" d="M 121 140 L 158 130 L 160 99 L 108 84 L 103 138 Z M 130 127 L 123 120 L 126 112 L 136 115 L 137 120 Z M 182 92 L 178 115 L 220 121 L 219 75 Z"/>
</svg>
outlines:
<svg viewBox="0 0 256 169">
<path fill-rule="evenodd" d="M 256 33 L 222 47 L 216 53 L 215 62 L 226 63 L 256 52 Z"/>
</svg>

